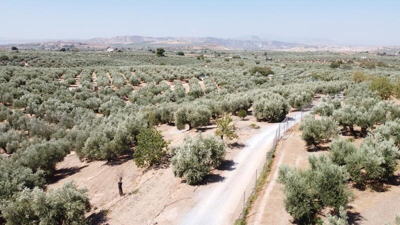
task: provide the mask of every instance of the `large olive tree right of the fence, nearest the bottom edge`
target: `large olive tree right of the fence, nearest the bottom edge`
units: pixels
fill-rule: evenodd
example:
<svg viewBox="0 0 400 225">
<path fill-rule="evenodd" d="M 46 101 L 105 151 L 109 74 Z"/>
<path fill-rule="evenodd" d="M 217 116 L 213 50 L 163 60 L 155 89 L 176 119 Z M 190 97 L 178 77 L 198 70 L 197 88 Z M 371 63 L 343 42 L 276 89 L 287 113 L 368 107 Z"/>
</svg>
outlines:
<svg viewBox="0 0 400 225">
<path fill-rule="evenodd" d="M 305 170 L 287 165 L 279 168 L 286 211 L 301 223 L 313 222 L 325 206 L 338 209 L 346 205 L 352 195 L 344 167 L 332 163 L 326 155 L 311 156 L 308 161 L 310 168 Z"/>
</svg>

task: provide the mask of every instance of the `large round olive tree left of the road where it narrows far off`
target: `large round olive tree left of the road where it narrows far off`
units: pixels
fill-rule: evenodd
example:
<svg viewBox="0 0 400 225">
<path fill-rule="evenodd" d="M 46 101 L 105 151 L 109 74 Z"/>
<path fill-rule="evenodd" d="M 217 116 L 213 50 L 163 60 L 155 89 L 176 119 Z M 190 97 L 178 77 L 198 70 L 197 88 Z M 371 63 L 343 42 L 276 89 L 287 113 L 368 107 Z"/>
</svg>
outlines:
<svg viewBox="0 0 400 225">
<path fill-rule="evenodd" d="M 289 112 L 287 100 L 279 94 L 271 93 L 254 100 L 253 112 L 257 120 L 281 121 Z"/>
</svg>

